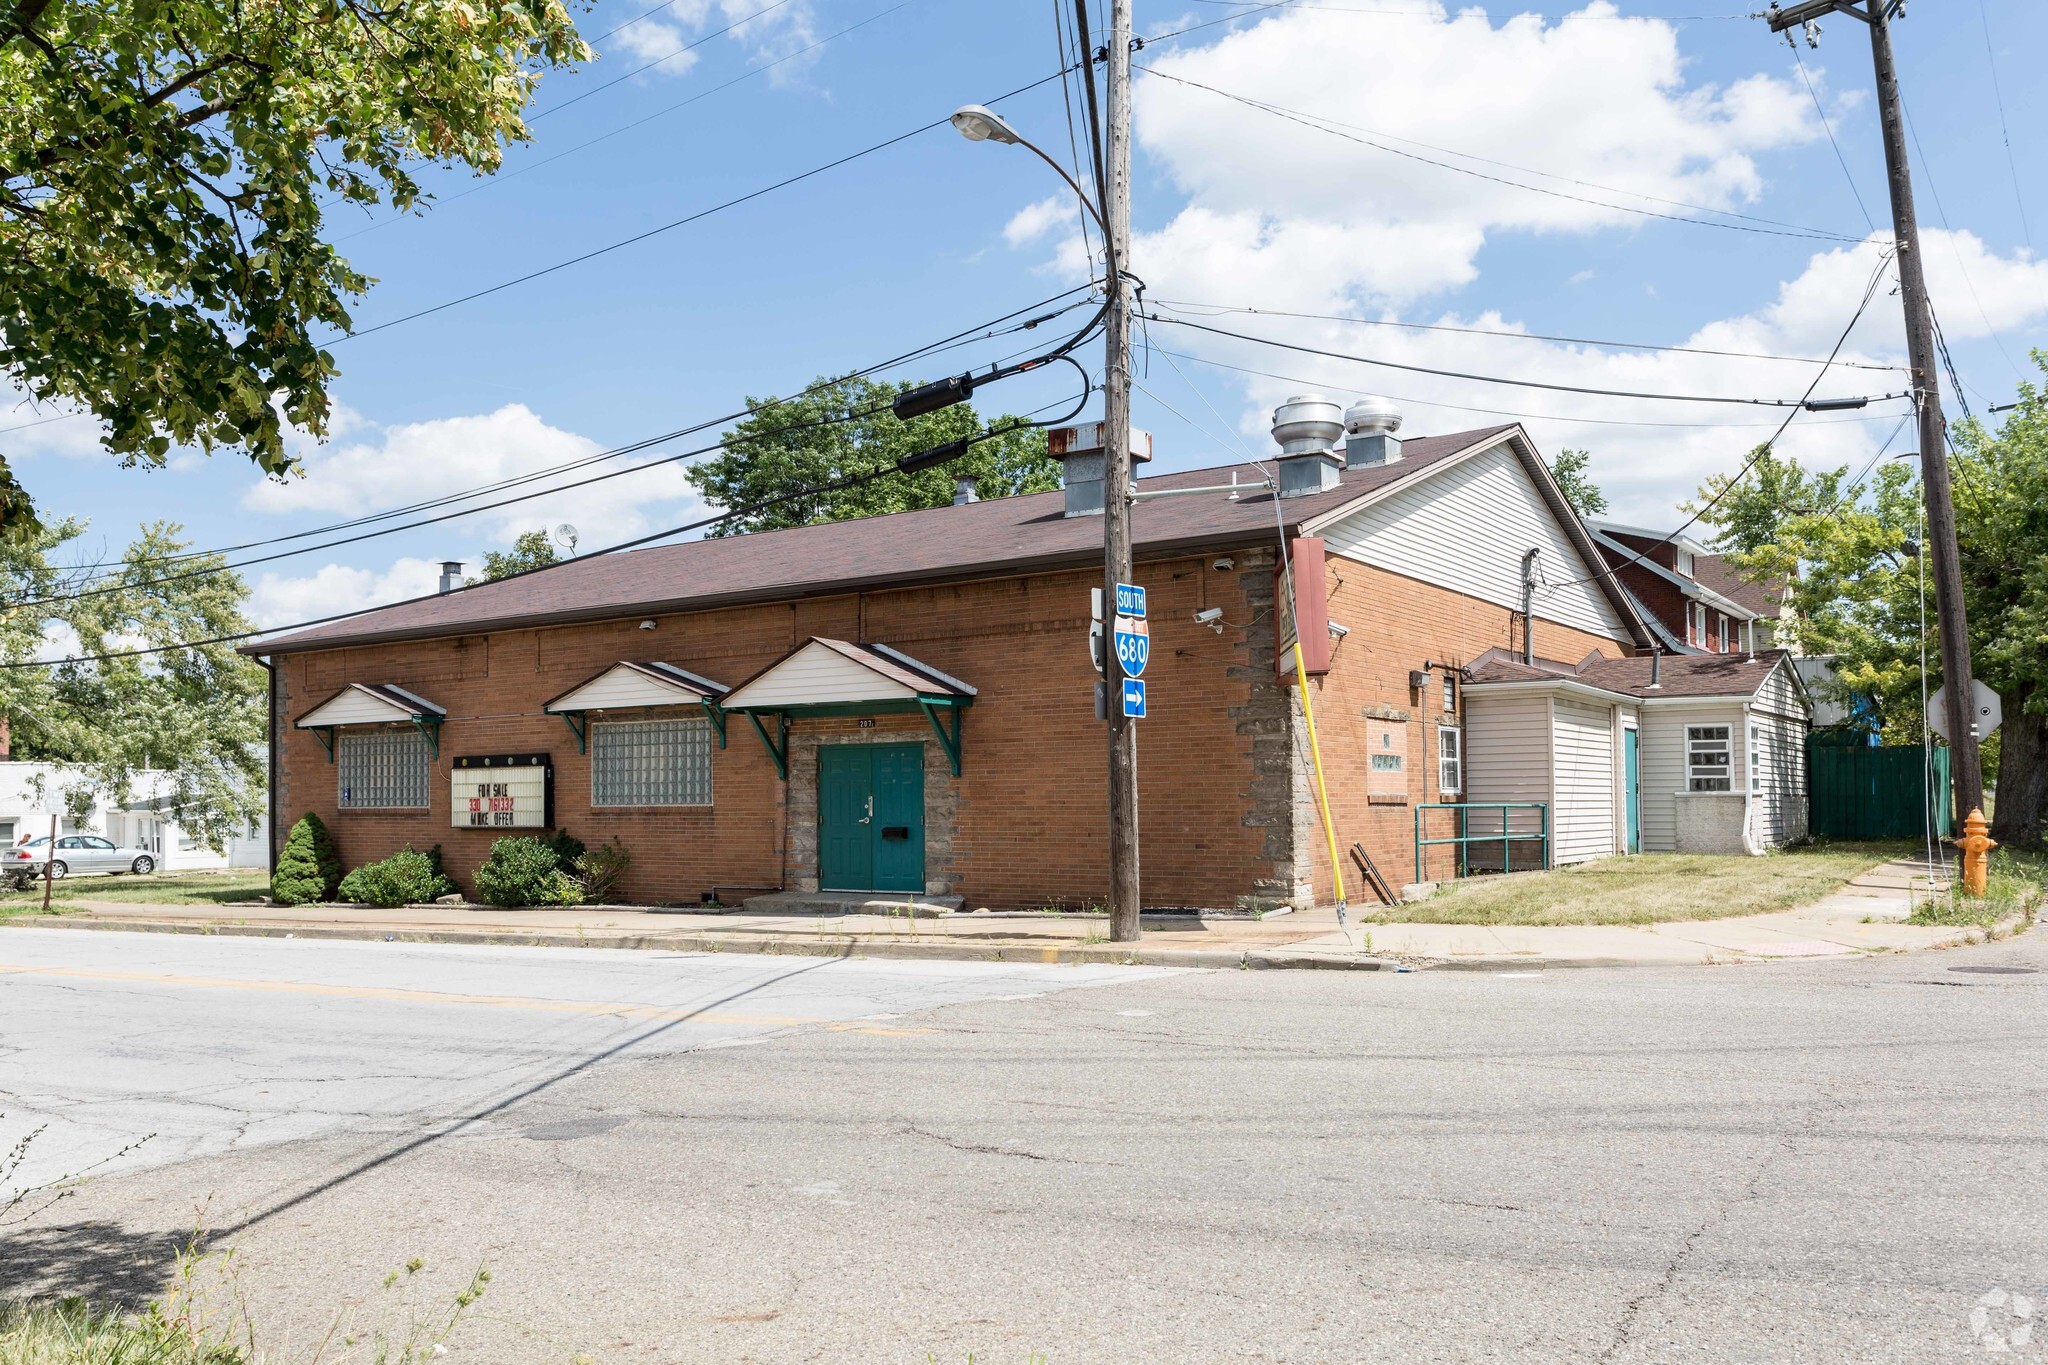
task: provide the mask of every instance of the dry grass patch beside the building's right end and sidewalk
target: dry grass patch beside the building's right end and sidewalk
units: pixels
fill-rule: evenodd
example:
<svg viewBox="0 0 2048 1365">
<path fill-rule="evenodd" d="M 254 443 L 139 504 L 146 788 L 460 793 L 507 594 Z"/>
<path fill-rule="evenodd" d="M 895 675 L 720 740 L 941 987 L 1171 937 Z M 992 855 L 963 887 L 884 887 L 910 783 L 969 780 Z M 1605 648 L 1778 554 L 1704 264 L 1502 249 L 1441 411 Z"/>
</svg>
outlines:
<svg viewBox="0 0 2048 1365">
<path fill-rule="evenodd" d="M 1827 843 L 1767 857 L 1602 857 L 1554 872 L 1448 882 L 1427 900 L 1382 907 L 1366 919 L 1384 925 L 1655 925 L 1767 915 L 1819 900 L 1886 857 L 1911 851 L 1903 843 Z"/>
</svg>

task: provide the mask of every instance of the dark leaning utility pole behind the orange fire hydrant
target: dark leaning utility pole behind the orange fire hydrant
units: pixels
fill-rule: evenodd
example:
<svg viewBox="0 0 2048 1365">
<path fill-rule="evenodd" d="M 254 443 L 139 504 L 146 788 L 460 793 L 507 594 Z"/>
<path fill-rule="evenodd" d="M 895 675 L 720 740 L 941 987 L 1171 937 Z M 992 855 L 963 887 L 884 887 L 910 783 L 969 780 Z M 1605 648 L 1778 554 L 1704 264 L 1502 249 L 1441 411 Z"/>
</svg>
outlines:
<svg viewBox="0 0 2048 1365">
<path fill-rule="evenodd" d="M 1905 0 L 1804 0 L 1772 6 L 1763 18 L 1772 33 L 1806 29 L 1808 45 L 1821 35 L 1819 18 L 1841 12 L 1870 27 L 1870 59 L 1878 76 L 1878 121 L 1884 129 L 1884 180 L 1892 194 L 1892 241 L 1898 248 L 1898 301 L 1907 315 L 1907 364 L 1919 409 L 1921 493 L 1927 499 L 1925 555 L 1933 569 L 1935 618 L 1942 634 L 1942 684 L 1948 700 L 1948 743 L 1956 780 L 1956 814 L 1985 804 L 1978 759 L 1976 710 L 1970 696 L 1970 626 L 1962 608 L 1962 553 L 1956 548 L 1956 503 L 1948 479 L 1948 424 L 1942 420 L 1942 383 L 1935 372 L 1933 313 L 1921 268 L 1919 221 L 1913 215 L 1913 172 L 1907 164 L 1905 115 L 1898 108 L 1898 68 L 1892 63 L 1892 16 Z M 1798 39 L 1788 39 L 1798 41 Z"/>
</svg>

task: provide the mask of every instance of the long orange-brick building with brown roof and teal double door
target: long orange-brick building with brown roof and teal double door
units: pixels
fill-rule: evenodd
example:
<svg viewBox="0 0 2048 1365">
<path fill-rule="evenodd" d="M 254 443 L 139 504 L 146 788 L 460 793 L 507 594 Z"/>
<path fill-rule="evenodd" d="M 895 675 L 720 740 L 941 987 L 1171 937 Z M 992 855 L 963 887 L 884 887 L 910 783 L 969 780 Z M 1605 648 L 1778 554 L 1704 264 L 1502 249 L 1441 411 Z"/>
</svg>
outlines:
<svg viewBox="0 0 2048 1365">
<path fill-rule="evenodd" d="M 1282 561 L 1339 843 L 1395 882 L 1415 806 L 1468 796 L 1466 665 L 1653 643 L 1520 426 L 1403 442 L 1374 417 L 1339 444 L 1311 403 L 1325 440 L 1139 483 L 1149 907 L 1331 892 Z M 1075 450 L 1055 493 L 592 557 L 264 641 L 274 823 L 317 812 L 348 866 L 438 843 L 465 886 L 494 837 L 559 827 L 616 837 L 641 902 L 1098 902 L 1100 467 Z M 1610 821 L 1587 855 L 1622 847 Z"/>
</svg>

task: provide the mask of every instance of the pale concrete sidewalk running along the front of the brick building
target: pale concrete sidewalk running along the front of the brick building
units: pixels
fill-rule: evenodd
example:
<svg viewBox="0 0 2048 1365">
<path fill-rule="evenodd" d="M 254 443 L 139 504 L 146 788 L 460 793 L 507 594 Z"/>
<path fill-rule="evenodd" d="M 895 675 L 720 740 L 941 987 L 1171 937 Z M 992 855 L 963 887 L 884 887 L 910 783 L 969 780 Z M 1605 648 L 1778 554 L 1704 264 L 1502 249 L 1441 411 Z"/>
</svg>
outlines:
<svg viewBox="0 0 2048 1365">
<path fill-rule="evenodd" d="M 1331 907 L 1264 921 L 1147 915 L 1141 943 L 1108 943 L 1108 923 L 1102 915 L 989 911 L 905 919 L 700 915 L 606 907 L 498 911 L 426 905 L 375 911 L 344 905 L 244 909 L 74 900 L 68 915 L 25 915 L 0 919 L 0 925 L 842 958 L 1331 970 L 1536 970 L 1841 958 L 1954 948 L 2017 927 L 2017 921 L 1991 931 L 1903 923 L 1913 913 L 1915 898 L 1927 898 L 1927 884 L 1929 868 L 1901 860 L 1874 868 L 1843 890 L 1796 911 L 1640 927 L 1358 925 L 1354 919 L 1348 929 L 1339 929 Z"/>
</svg>

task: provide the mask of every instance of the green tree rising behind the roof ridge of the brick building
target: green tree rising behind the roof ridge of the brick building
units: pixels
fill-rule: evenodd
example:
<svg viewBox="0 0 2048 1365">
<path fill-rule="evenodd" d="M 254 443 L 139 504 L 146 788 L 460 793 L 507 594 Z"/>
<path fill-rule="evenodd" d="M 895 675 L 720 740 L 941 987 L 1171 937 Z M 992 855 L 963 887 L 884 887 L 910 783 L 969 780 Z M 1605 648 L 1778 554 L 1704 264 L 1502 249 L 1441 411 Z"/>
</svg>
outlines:
<svg viewBox="0 0 2048 1365">
<path fill-rule="evenodd" d="M 973 436 L 987 426 L 971 403 L 899 422 L 887 403 L 909 387 L 907 383 L 891 385 L 872 379 L 821 381 L 801 397 L 766 401 L 760 411 L 725 434 L 725 450 L 717 458 L 690 469 L 690 483 L 719 508 L 743 508 L 887 469 L 905 454 Z M 758 401 L 748 399 L 748 405 Z M 846 413 L 866 413 L 870 407 L 881 411 L 852 422 L 829 422 Z M 995 426 L 1001 422 L 1008 417 L 997 420 Z M 952 481 L 958 475 L 975 475 L 981 481 L 983 497 L 1042 493 L 1059 487 L 1059 463 L 1044 450 L 1044 432 L 1020 428 L 977 444 L 950 465 L 766 508 L 723 522 L 711 534 L 737 536 L 911 508 L 942 508 L 952 501 Z"/>
</svg>

